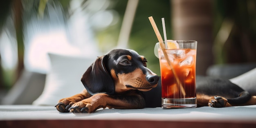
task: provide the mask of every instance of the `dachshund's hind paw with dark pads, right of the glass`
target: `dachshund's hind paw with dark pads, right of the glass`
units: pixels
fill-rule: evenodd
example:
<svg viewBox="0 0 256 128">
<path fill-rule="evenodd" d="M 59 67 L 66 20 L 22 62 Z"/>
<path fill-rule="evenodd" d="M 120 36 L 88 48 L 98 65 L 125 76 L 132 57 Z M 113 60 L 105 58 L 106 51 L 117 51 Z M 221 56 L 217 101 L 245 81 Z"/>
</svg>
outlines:
<svg viewBox="0 0 256 128">
<path fill-rule="evenodd" d="M 229 106 L 229 103 L 227 103 L 227 99 L 223 97 L 214 96 L 209 100 L 208 106 L 214 108 L 221 108 Z"/>
</svg>

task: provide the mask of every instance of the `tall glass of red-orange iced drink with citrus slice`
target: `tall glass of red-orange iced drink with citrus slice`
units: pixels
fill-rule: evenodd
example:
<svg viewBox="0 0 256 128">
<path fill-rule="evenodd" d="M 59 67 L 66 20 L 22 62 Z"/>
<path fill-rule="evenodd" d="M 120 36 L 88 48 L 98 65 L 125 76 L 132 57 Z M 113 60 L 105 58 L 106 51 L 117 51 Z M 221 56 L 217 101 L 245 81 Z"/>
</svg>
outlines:
<svg viewBox="0 0 256 128">
<path fill-rule="evenodd" d="M 164 51 L 156 44 L 162 84 L 163 108 L 195 108 L 195 63 L 197 42 L 169 40 Z M 168 63 L 169 62 L 169 63 Z"/>
</svg>

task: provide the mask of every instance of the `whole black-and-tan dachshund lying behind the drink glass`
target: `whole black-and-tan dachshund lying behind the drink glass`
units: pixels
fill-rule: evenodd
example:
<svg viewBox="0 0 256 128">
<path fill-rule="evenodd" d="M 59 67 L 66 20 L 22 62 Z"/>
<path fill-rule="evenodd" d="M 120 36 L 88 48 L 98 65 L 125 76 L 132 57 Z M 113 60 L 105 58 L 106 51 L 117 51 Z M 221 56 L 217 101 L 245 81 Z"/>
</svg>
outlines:
<svg viewBox="0 0 256 128">
<path fill-rule="evenodd" d="M 72 97 L 60 99 L 56 109 L 76 114 L 106 107 L 161 107 L 161 81 L 146 67 L 146 62 L 144 56 L 130 49 L 114 49 L 98 57 L 81 78 L 85 89 Z M 256 96 L 229 80 L 196 76 L 196 87 L 198 107 L 256 104 Z"/>
</svg>

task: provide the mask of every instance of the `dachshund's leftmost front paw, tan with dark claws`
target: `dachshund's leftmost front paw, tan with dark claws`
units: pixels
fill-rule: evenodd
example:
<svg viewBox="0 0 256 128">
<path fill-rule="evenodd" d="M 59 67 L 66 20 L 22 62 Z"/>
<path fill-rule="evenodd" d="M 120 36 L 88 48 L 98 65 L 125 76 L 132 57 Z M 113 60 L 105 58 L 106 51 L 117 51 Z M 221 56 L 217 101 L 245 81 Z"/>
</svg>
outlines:
<svg viewBox="0 0 256 128">
<path fill-rule="evenodd" d="M 64 98 L 64 99 L 60 99 L 58 101 L 58 103 L 56 104 L 56 109 L 59 112 L 70 112 L 68 109 L 72 106 L 72 104 L 74 104 L 75 102 L 72 101 L 72 99 L 70 98 Z"/>
</svg>

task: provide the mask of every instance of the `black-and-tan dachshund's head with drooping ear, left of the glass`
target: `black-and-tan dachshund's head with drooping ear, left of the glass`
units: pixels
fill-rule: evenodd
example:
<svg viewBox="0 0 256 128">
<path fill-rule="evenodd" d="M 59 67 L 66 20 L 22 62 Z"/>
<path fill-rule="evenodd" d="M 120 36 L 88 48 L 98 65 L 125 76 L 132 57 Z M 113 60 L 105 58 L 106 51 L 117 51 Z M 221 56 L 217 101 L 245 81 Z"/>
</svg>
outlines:
<svg viewBox="0 0 256 128">
<path fill-rule="evenodd" d="M 90 94 L 149 91 L 159 77 L 146 67 L 146 58 L 130 49 L 114 49 L 100 56 L 86 70 L 81 81 Z"/>
</svg>

